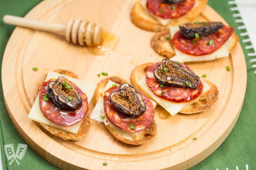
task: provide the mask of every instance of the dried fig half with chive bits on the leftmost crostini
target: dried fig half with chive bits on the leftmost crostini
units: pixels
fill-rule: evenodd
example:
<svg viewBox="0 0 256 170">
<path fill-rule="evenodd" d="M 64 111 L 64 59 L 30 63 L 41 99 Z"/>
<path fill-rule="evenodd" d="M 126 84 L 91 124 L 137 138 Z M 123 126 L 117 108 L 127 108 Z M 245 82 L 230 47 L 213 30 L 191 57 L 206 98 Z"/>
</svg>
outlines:
<svg viewBox="0 0 256 170">
<path fill-rule="evenodd" d="M 50 81 L 47 92 L 53 104 L 64 110 L 76 110 L 82 103 L 82 98 L 71 82 L 64 76 Z"/>
</svg>

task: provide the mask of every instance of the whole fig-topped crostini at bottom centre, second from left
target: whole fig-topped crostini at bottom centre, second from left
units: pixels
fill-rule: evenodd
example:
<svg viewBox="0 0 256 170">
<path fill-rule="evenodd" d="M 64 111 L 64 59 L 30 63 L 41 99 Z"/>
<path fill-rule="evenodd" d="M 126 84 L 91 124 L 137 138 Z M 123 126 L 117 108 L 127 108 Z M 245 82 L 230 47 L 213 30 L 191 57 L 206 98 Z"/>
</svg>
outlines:
<svg viewBox="0 0 256 170">
<path fill-rule="evenodd" d="M 157 133 L 156 103 L 120 77 L 111 76 L 99 82 L 94 104 L 91 119 L 102 122 L 115 138 L 126 144 L 144 144 Z"/>
</svg>

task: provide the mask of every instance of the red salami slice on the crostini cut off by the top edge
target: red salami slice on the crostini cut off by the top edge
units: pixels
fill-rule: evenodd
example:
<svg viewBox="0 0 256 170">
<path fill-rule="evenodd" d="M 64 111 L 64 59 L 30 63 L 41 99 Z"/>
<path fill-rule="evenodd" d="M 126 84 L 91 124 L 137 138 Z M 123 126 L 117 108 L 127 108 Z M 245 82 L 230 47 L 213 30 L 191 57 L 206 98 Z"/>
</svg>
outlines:
<svg viewBox="0 0 256 170">
<path fill-rule="evenodd" d="M 195 3 L 195 0 L 185 0 L 177 4 L 168 4 L 164 0 L 147 0 L 146 6 L 153 15 L 163 19 L 171 19 L 186 14 Z"/>
</svg>

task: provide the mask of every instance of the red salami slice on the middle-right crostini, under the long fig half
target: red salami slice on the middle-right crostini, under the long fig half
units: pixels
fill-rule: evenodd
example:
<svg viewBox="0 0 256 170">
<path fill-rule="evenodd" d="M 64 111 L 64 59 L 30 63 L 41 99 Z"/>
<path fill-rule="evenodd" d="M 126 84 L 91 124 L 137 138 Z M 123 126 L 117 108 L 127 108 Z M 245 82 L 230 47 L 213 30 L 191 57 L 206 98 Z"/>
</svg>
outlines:
<svg viewBox="0 0 256 170">
<path fill-rule="evenodd" d="M 174 61 L 174 62 L 177 62 L 177 61 Z M 181 102 L 190 102 L 202 94 L 203 83 L 201 82 L 201 80 L 199 81 L 197 89 L 175 87 L 175 86 L 169 86 L 165 84 L 163 85 L 164 87 L 161 89 L 160 88 L 161 83 L 158 82 L 156 77 L 154 76 L 154 70 L 158 65 L 160 65 L 160 63 L 161 62 L 158 62 L 149 66 L 146 72 L 146 83 L 156 96 L 171 102 L 181 103 Z M 180 63 L 180 64 L 190 69 L 187 65 L 183 63 Z M 163 92 L 163 90 L 166 90 L 166 91 Z"/>
</svg>

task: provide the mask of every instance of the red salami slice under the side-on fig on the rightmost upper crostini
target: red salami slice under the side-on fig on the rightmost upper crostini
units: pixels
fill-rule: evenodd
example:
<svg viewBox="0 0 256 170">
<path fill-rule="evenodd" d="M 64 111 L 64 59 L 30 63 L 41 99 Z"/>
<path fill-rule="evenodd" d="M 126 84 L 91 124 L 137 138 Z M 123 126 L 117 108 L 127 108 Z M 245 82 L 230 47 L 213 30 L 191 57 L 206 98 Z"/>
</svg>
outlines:
<svg viewBox="0 0 256 170">
<path fill-rule="evenodd" d="M 223 28 L 209 36 L 200 37 L 199 39 L 187 39 L 181 30 L 179 30 L 174 35 L 172 42 L 174 47 L 182 53 L 192 56 L 202 56 L 217 51 L 229 39 L 233 32 L 234 28 L 223 25 Z M 209 45 L 210 40 L 214 40 L 212 45 Z"/>
</svg>

